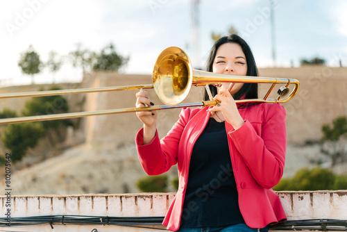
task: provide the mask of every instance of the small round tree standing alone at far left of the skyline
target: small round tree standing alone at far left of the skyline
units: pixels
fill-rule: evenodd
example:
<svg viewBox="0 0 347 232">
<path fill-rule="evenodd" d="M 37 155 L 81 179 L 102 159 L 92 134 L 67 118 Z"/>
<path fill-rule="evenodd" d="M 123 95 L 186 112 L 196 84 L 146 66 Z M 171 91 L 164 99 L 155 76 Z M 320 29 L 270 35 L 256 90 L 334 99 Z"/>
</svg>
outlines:
<svg viewBox="0 0 347 232">
<path fill-rule="evenodd" d="M 31 75 L 31 84 L 34 83 L 34 74 L 41 72 L 42 62 L 40 56 L 30 45 L 28 50 L 21 53 L 18 66 L 22 68 L 24 74 Z"/>
</svg>

